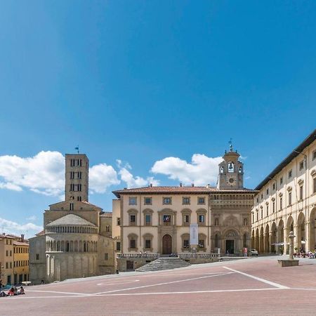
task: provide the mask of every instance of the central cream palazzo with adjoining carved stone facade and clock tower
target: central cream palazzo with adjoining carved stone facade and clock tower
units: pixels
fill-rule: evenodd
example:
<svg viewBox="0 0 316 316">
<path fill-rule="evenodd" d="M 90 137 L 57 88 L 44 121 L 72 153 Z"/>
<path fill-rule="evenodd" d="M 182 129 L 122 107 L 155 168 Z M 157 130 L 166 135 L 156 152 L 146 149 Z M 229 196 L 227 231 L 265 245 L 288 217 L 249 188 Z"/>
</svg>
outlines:
<svg viewBox="0 0 316 316">
<path fill-rule="evenodd" d="M 218 187 L 150 185 L 114 191 L 113 237 L 121 254 L 240 254 L 249 248 L 255 192 L 243 187 L 244 166 L 238 158 L 232 147 L 225 152 Z M 194 245 L 191 224 L 197 225 Z"/>
</svg>

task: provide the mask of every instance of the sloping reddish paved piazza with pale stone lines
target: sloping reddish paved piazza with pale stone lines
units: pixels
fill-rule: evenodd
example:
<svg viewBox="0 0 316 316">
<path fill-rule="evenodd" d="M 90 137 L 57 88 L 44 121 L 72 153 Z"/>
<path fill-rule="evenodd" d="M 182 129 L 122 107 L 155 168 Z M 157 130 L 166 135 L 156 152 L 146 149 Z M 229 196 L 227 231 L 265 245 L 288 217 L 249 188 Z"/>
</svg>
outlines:
<svg viewBox="0 0 316 316">
<path fill-rule="evenodd" d="M 312 315 L 316 259 L 281 268 L 279 257 L 159 272 L 125 272 L 26 287 L 0 298 L 1 315 Z"/>
</svg>

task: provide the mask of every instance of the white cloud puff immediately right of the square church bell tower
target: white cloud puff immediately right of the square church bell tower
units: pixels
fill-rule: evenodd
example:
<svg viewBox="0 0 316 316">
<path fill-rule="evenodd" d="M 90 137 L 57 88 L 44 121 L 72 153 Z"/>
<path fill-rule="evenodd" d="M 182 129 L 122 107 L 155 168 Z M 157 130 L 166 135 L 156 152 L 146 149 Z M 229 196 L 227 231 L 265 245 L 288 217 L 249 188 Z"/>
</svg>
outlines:
<svg viewBox="0 0 316 316">
<path fill-rule="evenodd" d="M 89 169 L 89 187 L 91 192 L 105 193 L 110 185 L 118 185 L 117 171 L 107 164 L 97 164 Z"/>
</svg>

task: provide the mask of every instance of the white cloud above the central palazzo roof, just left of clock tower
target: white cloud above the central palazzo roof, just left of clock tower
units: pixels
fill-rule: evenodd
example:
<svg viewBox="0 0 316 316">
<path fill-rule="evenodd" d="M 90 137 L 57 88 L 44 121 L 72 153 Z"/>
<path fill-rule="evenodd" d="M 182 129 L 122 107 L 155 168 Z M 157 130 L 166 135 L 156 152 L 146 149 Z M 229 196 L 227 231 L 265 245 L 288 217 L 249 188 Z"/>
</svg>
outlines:
<svg viewBox="0 0 316 316">
<path fill-rule="evenodd" d="M 185 185 L 215 185 L 218 176 L 218 164 L 222 157 L 206 157 L 204 154 L 193 154 L 188 163 L 178 157 L 166 157 L 154 163 L 152 173 L 162 173 L 170 179 L 179 180 Z"/>
</svg>

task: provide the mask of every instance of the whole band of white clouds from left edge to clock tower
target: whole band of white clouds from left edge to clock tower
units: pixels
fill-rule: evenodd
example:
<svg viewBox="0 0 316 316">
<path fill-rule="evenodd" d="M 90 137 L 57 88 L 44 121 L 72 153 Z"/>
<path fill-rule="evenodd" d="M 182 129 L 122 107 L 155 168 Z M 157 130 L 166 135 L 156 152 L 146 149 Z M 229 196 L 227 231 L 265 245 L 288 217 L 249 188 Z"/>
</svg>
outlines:
<svg viewBox="0 0 316 316">
<path fill-rule="evenodd" d="M 151 173 L 168 176 L 185 185 L 215 185 L 218 176 L 218 164 L 221 157 L 207 157 L 193 154 L 192 161 L 186 162 L 178 157 L 166 157 L 154 162 Z M 131 166 L 117 159 L 117 170 L 113 166 L 97 164 L 89 169 L 90 193 L 103 194 L 108 187 L 126 183 L 127 187 L 159 185 L 153 176 L 133 176 Z M 123 185 L 122 185 L 123 186 Z M 65 157 L 56 151 L 42 151 L 34 157 L 16 155 L 0 156 L 0 189 L 31 190 L 41 195 L 63 197 L 65 190 Z"/>
</svg>

